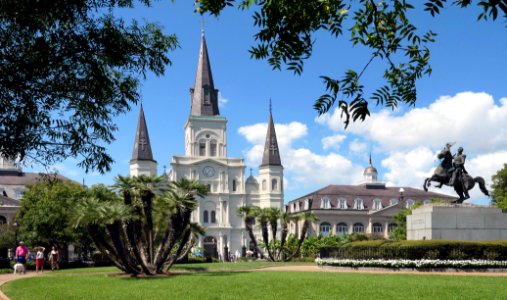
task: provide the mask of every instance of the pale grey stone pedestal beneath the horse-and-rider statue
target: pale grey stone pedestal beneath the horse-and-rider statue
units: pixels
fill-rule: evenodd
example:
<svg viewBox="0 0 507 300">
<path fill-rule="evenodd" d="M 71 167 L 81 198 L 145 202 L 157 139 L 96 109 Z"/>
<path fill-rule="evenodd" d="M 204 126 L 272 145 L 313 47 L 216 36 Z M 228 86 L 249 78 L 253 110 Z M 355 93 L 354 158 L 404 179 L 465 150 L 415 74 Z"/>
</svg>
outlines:
<svg viewBox="0 0 507 300">
<path fill-rule="evenodd" d="M 507 240 L 507 214 L 489 206 L 424 205 L 407 216 L 407 240 Z"/>
</svg>

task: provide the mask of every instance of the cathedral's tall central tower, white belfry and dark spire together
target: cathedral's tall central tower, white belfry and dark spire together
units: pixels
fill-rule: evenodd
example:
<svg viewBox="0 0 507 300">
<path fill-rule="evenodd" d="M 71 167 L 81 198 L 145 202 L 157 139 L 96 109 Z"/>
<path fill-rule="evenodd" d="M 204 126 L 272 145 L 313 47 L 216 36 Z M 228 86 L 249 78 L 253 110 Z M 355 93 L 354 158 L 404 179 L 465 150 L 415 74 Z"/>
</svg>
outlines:
<svg viewBox="0 0 507 300">
<path fill-rule="evenodd" d="M 218 90 L 213 83 L 204 33 L 190 99 L 190 116 L 185 124 L 185 156 L 226 158 L 227 120 L 218 110 Z"/>
</svg>

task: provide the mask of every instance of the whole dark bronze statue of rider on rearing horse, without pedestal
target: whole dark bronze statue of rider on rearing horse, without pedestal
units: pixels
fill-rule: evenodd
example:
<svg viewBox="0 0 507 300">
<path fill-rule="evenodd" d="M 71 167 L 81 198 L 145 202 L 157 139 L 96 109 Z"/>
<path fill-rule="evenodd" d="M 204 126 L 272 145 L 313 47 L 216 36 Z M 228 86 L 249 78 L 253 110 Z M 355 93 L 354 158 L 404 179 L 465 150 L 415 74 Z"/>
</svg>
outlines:
<svg viewBox="0 0 507 300">
<path fill-rule="evenodd" d="M 438 188 L 441 188 L 444 184 L 452 186 L 459 196 L 456 203 L 463 203 L 463 201 L 470 198 L 468 191 L 477 183 L 484 195 L 489 196 L 484 178 L 479 176 L 474 178 L 465 169 L 466 155 L 463 154 L 463 147 L 459 147 L 458 152 L 452 155 L 452 145 L 454 143 L 445 144 L 444 149 L 437 155 L 437 158 L 440 159 L 440 165 L 435 169 L 433 176 L 424 180 L 424 190 L 428 191 L 431 181 L 438 182 Z"/>
</svg>

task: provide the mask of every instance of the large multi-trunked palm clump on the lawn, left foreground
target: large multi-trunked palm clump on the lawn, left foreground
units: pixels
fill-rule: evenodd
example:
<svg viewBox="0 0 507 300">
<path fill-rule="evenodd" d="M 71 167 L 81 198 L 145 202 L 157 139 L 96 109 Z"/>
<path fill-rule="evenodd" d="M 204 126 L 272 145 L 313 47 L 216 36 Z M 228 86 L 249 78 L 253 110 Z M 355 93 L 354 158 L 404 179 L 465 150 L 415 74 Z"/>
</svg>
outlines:
<svg viewBox="0 0 507 300">
<path fill-rule="evenodd" d="M 76 206 L 75 225 L 86 226 L 97 247 L 126 273 L 167 272 L 200 232 L 190 224 L 190 217 L 195 197 L 205 195 L 206 186 L 180 180 L 159 197 L 159 183 L 157 178 L 119 176 L 113 190 L 121 198 L 105 186 L 92 187 Z M 155 244 L 159 244 L 156 252 Z"/>
</svg>

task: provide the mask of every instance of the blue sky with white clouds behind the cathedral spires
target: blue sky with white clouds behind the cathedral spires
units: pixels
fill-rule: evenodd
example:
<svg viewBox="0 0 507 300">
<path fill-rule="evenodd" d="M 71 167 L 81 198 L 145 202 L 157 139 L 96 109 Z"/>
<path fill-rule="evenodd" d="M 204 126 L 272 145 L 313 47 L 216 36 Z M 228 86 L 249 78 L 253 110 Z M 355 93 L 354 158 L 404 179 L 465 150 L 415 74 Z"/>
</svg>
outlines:
<svg viewBox="0 0 507 300">
<path fill-rule="evenodd" d="M 194 84 L 202 19 L 193 1 L 160 1 L 117 13 L 126 19 L 157 22 L 178 37 L 181 48 L 169 54 L 166 74 L 149 74 L 142 83 L 142 102 L 159 172 L 173 155 L 184 154 L 183 125 L 190 111 L 189 88 Z M 314 100 L 324 92 L 320 75 L 341 77 L 360 69 L 369 59 L 363 48 L 352 48 L 349 34 L 339 40 L 318 33 L 313 56 L 304 73 L 273 71 L 265 61 L 250 58 L 254 45 L 251 12 L 229 8 L 219 18 L 206 16 L 204 28 L 215 87 L 221 95 L 221 115 L 228 120 L 228 154 L 245 157 L 254 175 L 260 164 L 269 99 L 285 167 L 285 201 L 328 184 L 357 184 L 371 153 L 379 178 L 389 185 L 420 188 L 437 165 L 435 154 L 446 142 L 456 142 L 468 154 L 467 169 L 491 181 L 507 163 L 507 28 L 502 21 L 477 22 L 477 11 L 448 7 L 435 18 L 417 12 L 420 28 L 438 33 L 431 46 L 433 73 L 418 82 L 415 107 L 396 111 L 375 107 L 372 118 L 343 130 L 334 109 L 317 118 Z M 372 64 L 364 84 L 383 84 Z M 76 160 L 55 166 L 61 174 L 87 185 L 110 184 L 127 175 L 139 107 L 117 118 L 116 141 L 108 147 L 115 164 L 111 173 L 85 174 Z M 450 188 L 441 191 L 451 193 Z M 472 193 L 475 203 L 488 200 Z"/>
</svg>

